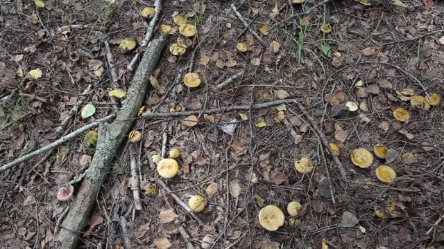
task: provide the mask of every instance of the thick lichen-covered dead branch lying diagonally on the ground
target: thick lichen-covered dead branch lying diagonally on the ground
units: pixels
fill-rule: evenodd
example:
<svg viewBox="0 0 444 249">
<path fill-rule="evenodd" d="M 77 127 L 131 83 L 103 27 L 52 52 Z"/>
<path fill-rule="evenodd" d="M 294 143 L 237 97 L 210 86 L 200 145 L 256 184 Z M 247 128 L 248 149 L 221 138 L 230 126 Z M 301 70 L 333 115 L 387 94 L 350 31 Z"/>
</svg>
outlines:
<svg viewBox="0 0 444 249">
<path fill-rule="evenodd" d="M 85 178 L 80 184 L 76 198 L 71 205 L 67 218 L 62 223 L 59 241 L 60 248 L 77 248 L 79 233 L 87 225 L 89 214 L 96 203 L 101 184 L 110 171 L 110 163 L 133 125 L 137 111 L 146 95 L 148 80 L 160 57 L 163 47 L 167 44 L 167 34 L 161 35 L 146 47 L 146 51 L 137 69 L 133 82 L 128 89 L 127 98 L 117 118 L 111 124 L 99 125 L 99 140 L 92 163 L 86 170 Z"/>
</svg>

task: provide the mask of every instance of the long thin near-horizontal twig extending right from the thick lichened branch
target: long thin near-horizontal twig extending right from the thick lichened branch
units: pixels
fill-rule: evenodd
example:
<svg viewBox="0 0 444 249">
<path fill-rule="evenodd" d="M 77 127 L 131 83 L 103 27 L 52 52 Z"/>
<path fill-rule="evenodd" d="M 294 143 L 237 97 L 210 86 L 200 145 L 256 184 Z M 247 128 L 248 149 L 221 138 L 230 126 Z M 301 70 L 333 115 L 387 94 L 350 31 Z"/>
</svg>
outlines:
<svg viewBox="0 0 444 249">
<path fill-rule="evenodd" d="M 298 101 L 296 99 L 287 99 L 287 100 L 273 100 L 270 102 L 264 102 L 262 104 L 253 104 L 251 106 L 252 110 L 257 109 L 264 109 L 267 107 L 273 107 L 275 105 L 279 104 L 289 104 L 293 103 L 294 101 Z M 204 111 L 178 111 L 173 113 L 146 113 L 143 114 L 143 118 L 173 118 L 173 117 L 180 117 L 180 116 L 190 116 L 190 115 L 196 115 L 196 114 L 211 114 L 211 113 L 221 113 L 224 111 L 248 111 L 250 110 L 250 105 L 240 105 L 240 106 L 232 106 L 232 107 L 225 107 L 225 108 L 218 108 L 218 109 L 207 109 Z"/>
</svg>

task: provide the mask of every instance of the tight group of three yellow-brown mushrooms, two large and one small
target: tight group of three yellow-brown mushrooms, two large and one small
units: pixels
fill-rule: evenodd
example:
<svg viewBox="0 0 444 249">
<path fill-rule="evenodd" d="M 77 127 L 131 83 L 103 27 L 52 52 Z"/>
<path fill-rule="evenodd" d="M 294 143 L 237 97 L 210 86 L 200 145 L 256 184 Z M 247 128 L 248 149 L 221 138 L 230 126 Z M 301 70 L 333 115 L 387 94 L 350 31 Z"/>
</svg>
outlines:
<svg viewBox="0 0 444 249">
<path fill-rule="evenodd" d="M 373 147 L 373 153 L 377 158 L 386 158 L 388 148 L 385 145 L 377 144 Z M 352 151 L 350 155 L 352 163 L 361 169 L 370 167 L 373 163 L 373 154 L 365 148 L 359 148 Z M 396 172 L 387 165 L 380 165 L 376 168 L 375 174 L 379 181 L 383 183 L 391 183 L 395 181 Z"/>
</svg>

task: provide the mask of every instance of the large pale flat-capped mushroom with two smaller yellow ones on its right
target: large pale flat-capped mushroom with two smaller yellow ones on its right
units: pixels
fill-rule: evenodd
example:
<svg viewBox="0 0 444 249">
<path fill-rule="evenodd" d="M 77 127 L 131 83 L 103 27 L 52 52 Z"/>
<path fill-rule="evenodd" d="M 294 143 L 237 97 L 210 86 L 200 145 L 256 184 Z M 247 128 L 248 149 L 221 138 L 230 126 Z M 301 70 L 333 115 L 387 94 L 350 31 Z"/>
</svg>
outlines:
<svg viewBox="0 0 444 249">
<path fill-rule="evenodd" d="M 295 217 L 298 216 L 299 210 L 302 207 L 297 201 L 291 201 L 287 205 L 287 212 L 291 216 L 290 225 L 295 226 L 300 223 L 300 220 Z M 259 224 L 262 228 L 268 231 L 278 230 L 285 223 L 284 212 L 277 205 L 267 205 L 259 211 Z"/>
</svg>

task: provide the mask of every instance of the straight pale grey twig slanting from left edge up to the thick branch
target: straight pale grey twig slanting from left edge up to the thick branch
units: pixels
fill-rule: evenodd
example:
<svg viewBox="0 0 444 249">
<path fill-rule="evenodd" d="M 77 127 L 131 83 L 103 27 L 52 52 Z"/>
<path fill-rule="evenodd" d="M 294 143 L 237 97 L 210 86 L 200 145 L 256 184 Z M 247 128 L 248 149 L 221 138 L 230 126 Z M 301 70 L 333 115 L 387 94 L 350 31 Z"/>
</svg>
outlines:
<svg viewBox="0 0 444 249">
<path fill-rule="evenodd" d="M 114 118 L 114 114 L 112 114 L 110 116 L 106 116 L 105 118 L 102 118 L 101 120 L 97 120 L 96 122 L 92 122 L 90 124 L 87 124 L 84 127 L 69 133 L 67 136 L 63 136 L 62 138 L 59 138 L 58 140 L 52 142 L 51 144 L 46 145 L 45 147 L 42 147 L 40 149 L 37 149 L 36 151 L 31 152 L 30 154 L 27 154 L 25 156 L 17 158 L 16 160 L 13 160 L 10 163 L 6 163 L 6 165 L 3 165 L 0 167 L 0 172 L 4 172 L 5 170 L 15 167 L 15 166 L 19 165 L 20 163 L 24 163 L 27 160 L 34 158 L 35 156 L 38 156 L 40 154 L 45 153 L 46 151 L 56 148 L 56 147 L 64 144 L 65 142 L 71 140 L 72 138 L 76 138 L 77 136 L 80 136 L 80 134 L 85 133 L 85 131 L 89 131 L 92 128 L 98 127 L 99 124 L 101 124 L 102 122 L 104 122 L 106 120 L 110 120 L 112 118 Z"/>
</svg>

